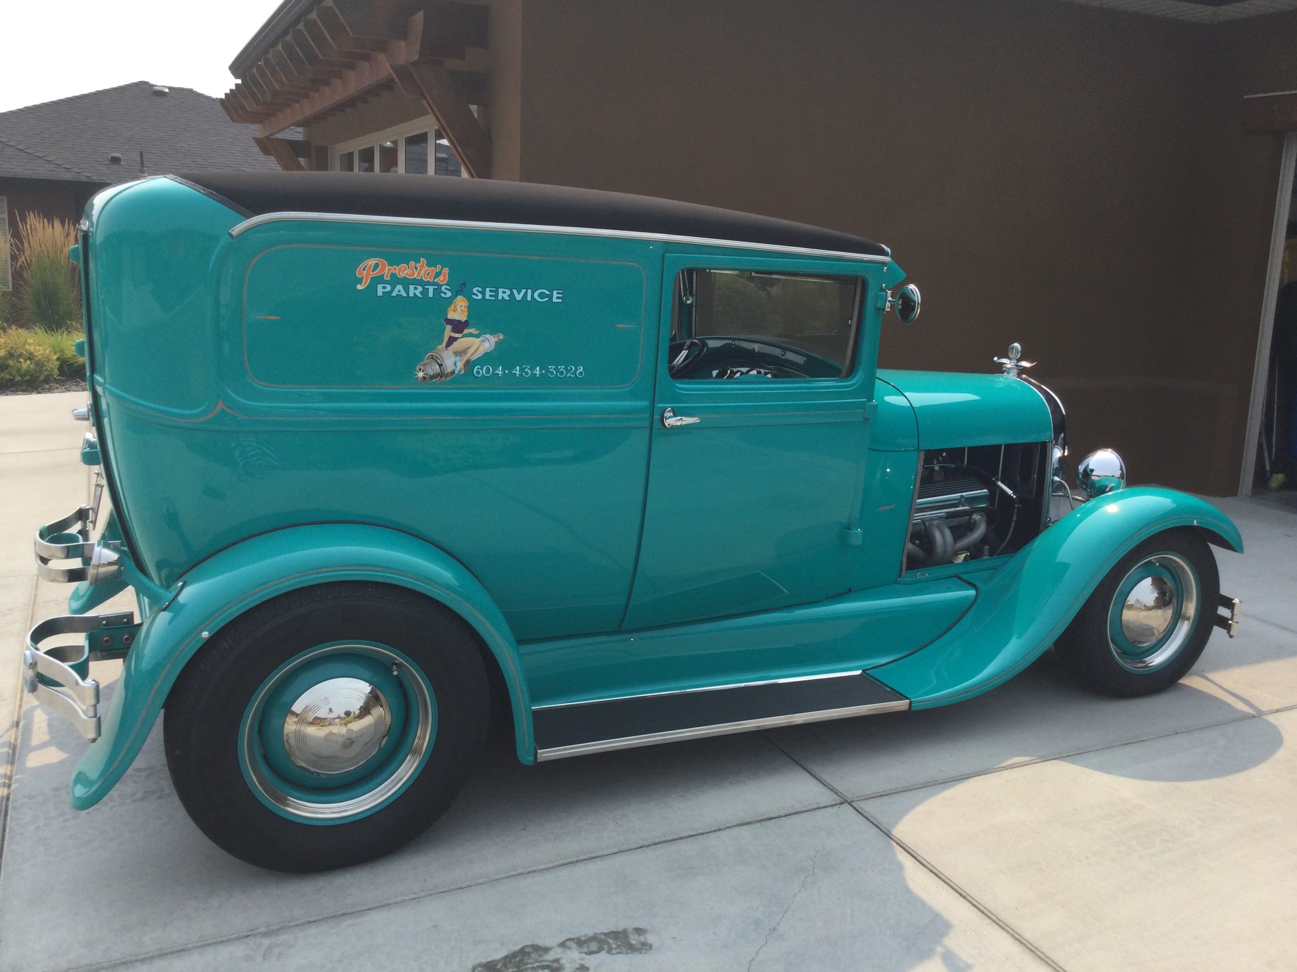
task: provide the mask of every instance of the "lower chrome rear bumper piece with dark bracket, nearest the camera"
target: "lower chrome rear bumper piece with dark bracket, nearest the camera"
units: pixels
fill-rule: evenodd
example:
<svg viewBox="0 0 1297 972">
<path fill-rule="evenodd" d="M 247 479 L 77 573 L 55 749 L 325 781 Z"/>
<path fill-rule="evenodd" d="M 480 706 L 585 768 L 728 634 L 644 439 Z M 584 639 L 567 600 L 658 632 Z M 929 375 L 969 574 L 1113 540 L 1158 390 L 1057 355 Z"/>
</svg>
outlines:
<svg viewBox="0 0 1297 972">
<path fill-rule="evenodd" d="M 47 618 L 27 632 L 22 654 L 23 688 L 61 715 L 92 743 L 99 739 L 99 682 L 89 678 L 89 662 L 125 654 L 139 634 L 131 612 L 121 614 L 65 614 Z M 80 644 L 42 648 L 57 635 L 84 634 Z"/>
</svg>

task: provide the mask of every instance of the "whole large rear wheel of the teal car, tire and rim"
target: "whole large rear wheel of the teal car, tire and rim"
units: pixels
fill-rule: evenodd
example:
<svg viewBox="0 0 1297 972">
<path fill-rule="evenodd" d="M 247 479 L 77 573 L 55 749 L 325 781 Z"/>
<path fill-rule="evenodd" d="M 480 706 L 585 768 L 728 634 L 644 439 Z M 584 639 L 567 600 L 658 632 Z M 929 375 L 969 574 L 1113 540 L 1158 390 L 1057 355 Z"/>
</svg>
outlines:
<svg viewBox="0 0 1297 972">
<path fill-rule="evenodd" d="M 336 583 L 253 608 L 167 699 L 195 823 L 278 871 L 387 854 L 450 806 L 481 748 L 486 671 L 464 622 L 403 588 Z"/>
</svg>

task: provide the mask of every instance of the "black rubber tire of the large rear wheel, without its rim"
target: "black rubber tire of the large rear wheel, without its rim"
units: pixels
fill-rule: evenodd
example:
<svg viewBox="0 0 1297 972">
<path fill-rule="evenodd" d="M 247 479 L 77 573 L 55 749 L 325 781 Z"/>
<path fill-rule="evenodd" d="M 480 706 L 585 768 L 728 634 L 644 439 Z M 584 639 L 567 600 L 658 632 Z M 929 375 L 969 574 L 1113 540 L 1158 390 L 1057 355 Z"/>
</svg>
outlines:
<svg viewBox="0 0 1297 972">
<path fill-rule="evenodd" d="M 241 769 L 243 719 L 280 666 L 346 640 L 390 645 L 422 670 L 434 734 L 390 802 L 358 819 L 303 823 L 270 809 Z M 327 871 L 388 854 L 441 816 L 481 750 L 489 714 L 486 670 L 463 619 L 401 587 L 346 582 L 275 597 L 213 635 L 167 697 L 163 740 L 180 802 L 217 845 L 258 867 Z"/>
</svg>

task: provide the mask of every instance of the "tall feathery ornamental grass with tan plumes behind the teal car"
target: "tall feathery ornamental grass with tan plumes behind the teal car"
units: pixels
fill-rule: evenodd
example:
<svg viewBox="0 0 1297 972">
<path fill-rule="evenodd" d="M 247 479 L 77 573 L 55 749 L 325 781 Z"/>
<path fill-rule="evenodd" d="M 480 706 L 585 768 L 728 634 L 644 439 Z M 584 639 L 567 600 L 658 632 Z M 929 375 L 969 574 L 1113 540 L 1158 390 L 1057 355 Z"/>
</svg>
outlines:
<svg viewBox="0 0 1297 972">
<path fill-rule="evenodd" d="M 18 220 L 18 307 L 29 327 L 66 330 L 78 327 L 80 293 L 67 248 L 77 231 L 66 219 L 27 213 Z"/>
</svg>

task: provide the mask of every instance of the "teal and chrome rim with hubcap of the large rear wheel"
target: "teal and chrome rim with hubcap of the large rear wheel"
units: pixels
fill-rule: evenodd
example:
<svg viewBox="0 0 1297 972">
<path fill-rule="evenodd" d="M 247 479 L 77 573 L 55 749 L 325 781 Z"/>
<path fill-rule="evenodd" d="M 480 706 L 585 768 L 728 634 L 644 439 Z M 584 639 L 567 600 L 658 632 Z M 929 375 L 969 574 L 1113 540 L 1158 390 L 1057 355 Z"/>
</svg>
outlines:
<svg viewBox="0 0 1297 972">
<path fill-rule="evenodd" d="M 253 693 L 239 762 L 276 814 L 345 823 L 401 796 L 436 734 L 432 687 L 405 654 L 376 643 L 322 644 L 285 661 Z"/>
</svg>

